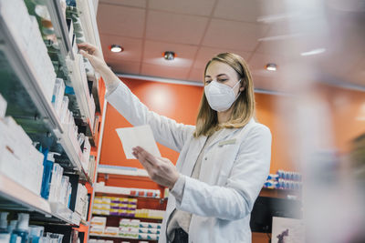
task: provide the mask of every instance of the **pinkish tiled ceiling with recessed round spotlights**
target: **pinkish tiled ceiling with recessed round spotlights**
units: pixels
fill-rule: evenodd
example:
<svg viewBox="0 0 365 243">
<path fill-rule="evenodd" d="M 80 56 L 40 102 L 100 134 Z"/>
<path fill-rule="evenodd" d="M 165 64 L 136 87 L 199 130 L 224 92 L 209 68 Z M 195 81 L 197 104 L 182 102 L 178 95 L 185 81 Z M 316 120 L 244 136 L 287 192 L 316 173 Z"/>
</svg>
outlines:
<svg viewBox="0 0 365 243">
<path fill-rule="evenodd" d="M 101 46 L 107 63 L 122 74 L 202 82 L 210 58 L 233 52 L 248 62 L 256 88 L 280 90 L 280 76 L 293 62 L 314 66 L 330 80 L 365 86 L 365 6 L 344 11 L 339 0 L 308 2 L 317 3 L 100 0 Z M 124 51 L 111 53 L 112 44 Z M 327 51 L 300 56 L 316 48 Z M 163 60 L 164 51 L 174 51 L 175 61 Z M 278 70 L 266 71 L 267 63 Z"/>
</svg>

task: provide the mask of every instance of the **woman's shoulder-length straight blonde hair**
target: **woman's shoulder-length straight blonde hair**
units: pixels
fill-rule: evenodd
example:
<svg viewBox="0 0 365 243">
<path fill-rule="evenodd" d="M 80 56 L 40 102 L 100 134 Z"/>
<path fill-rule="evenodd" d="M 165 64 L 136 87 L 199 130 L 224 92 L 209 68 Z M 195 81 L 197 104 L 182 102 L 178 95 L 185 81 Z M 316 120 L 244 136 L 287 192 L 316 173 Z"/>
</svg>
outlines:
<svg viewBox="0 0 365 243">
<path fill-rule="evenodd" d="M 222 53 L 214 56 L 205 66 L 204 83 L 206 69 L 212 62 L 221 62 L 235 69 L 238 78 L 241 79 L 241 86 L 244 86 L 244 91 L 235 100 L 233 111 L 228 121 L 223 124 L 218 124 L 217 112 L 208 104 L 208 100 L 203 92 L 200 102 L 199 113 L 196 118 L 194 137 L 211 136 L 215 131 L 222 128 L 239 128 L 245 127 L 252 117 L 255 116 L 255 93 L 254 83 L 251 72 L 248 69 L 244 58 L 233 53 Z"/>
</svg>

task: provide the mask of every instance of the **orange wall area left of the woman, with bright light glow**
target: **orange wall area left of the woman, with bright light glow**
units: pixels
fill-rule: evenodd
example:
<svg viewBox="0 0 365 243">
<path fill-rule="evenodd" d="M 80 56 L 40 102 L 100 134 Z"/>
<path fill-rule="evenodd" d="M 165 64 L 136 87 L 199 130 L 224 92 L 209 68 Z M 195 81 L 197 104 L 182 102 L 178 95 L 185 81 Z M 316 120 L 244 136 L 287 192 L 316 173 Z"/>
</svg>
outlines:
<svg viewBox="0 0 365 243">
<path fill-rule="evenodd" d="M 123 79 L 130 90 L 143 104 L 160 115 L 172 117 L 184 124 L 194 124 L 198 112 L 202 88 L 162 84 L 141 80 Z M 187 97 L 188 94 L 188 97 Z M 100 164 L 124 167 L 141 167 L 138 160 L 127 160 L 121 147 L 116 128 L 131 127 L 130 123 L 118 111 L 108 104 L 104 137 L 101 147 Z M 158 144 L 162 157 L 168 157 L 173 163 L 179 154 L 168 147 Z"/>
</svg>

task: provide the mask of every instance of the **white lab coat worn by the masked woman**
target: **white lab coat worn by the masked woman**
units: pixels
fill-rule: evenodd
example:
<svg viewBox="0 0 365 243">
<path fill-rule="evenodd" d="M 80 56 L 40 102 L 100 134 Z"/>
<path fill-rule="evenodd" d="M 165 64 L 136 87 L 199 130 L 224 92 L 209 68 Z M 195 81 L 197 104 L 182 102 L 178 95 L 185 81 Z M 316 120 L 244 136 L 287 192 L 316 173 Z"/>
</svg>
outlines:
<svg viewBox="0 0 365 243">
<path fill-rule="evenodd" d="M 155 139 L 180 152 L 176 163 L 185 177 L 181 203 L 169 196 L 160 243 L 174 208 L 193 213 L 189 243 L 251 242 L 250 213 L 269 173 L 270 130 L 252 119 L 245 127 L 224 129 L 207 147 L 199 180 L 193 166 L 207 137 L 193 137 L 195 127 L 160 116 L 144 106 L 124 84 L 107 95 L 133 126 L 149 124 Z"/>
</svg>

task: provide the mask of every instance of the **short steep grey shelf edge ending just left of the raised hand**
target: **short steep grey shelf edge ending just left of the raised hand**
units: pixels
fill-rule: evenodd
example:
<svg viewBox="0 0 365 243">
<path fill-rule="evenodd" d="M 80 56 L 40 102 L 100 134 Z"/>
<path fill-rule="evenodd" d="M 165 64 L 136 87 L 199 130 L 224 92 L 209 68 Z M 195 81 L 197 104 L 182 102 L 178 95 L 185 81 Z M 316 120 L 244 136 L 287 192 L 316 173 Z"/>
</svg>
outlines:
<svg viewBox="0 0 365 243">
<path fill-rule="evenodd" d="M 68 25 L 66 23 L 66 18 L 62 13 L 60 3 L 58 0 L 48 0 L 45 1 L 45 3 L 59 41 L 61 52 L 63 56 L 69 55 L 69 57 L 73 60 L 74 55 L 72 53 L 72 46 L 68 38 Z"/>
</svg>

